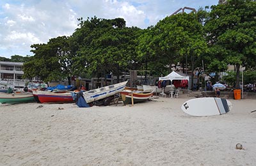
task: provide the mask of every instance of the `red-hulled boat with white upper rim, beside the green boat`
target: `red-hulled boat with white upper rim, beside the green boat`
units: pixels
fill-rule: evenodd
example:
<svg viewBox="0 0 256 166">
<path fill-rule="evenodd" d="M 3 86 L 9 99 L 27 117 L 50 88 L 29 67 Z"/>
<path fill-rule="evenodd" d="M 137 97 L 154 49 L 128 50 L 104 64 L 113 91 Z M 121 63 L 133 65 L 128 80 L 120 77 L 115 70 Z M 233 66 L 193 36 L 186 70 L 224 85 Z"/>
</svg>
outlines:
<svg viewBox="0 0 256 166">
<path fill-rule="evenodd" d="M 49 91 L 33 91 L 33 96 L 40 103 L 70 103 L 75 102 L 70 92 L 52 93 Z"/>
</svg>

